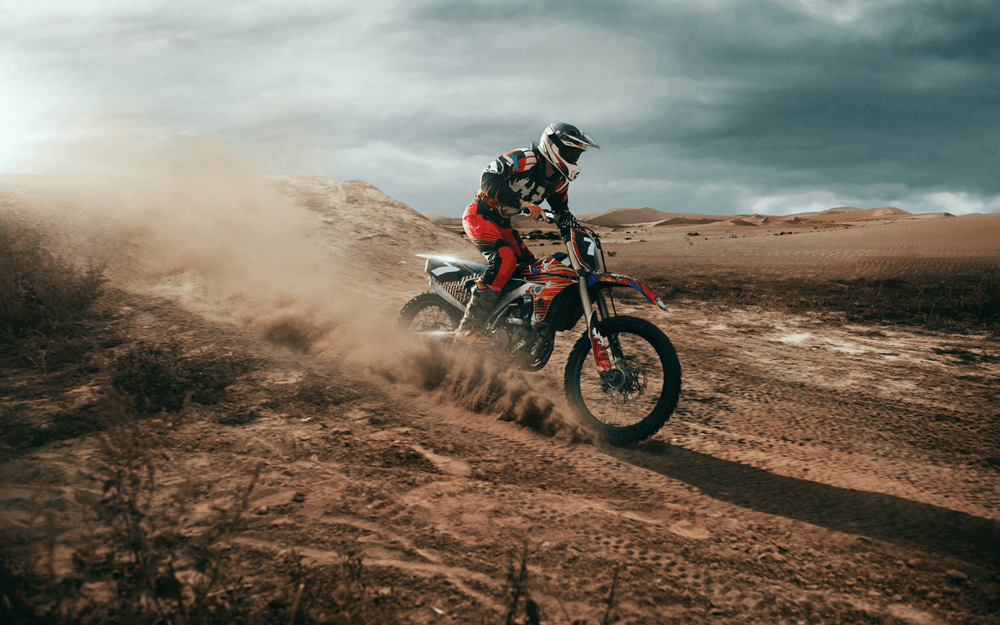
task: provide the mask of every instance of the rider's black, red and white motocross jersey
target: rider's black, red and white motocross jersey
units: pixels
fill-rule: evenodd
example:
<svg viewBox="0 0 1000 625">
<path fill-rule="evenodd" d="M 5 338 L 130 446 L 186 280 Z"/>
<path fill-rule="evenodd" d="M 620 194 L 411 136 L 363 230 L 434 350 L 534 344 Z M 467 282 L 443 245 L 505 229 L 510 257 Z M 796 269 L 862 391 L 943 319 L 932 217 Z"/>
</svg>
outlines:
<svg viewBox="0 0 1000 625">
<path fill-rule="evenodd" d="M 540 204 L 547 200 L 555 212 L 566 210 L 569 180 L 556 172 L 545 176 L 545 158 L 538 148 L 512 150 L 483 170 L 477 212 L 483 217 L 509 228 L 510 218 L 521 212 L 521 202 Z"/>
</svg>

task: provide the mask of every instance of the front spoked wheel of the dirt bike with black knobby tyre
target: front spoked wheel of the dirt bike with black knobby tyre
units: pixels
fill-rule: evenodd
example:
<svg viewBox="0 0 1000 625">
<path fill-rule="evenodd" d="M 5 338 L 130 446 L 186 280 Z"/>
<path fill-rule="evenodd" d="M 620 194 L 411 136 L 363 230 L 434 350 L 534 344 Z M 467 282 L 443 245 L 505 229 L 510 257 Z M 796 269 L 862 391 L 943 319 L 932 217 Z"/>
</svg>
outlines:
<svg viewBox="0 0 1000 625">
<path fill-rule="evenodd" d="M 673 413 L 681 365 L 663 332 L 645 319 L 612 317 L 601 323 L 617 366 L 594 364 L 584 335 L 566 363 L 566 399 L 584 422 L 611 443 L 626 445 L 655 434 Z"/>
</svg>

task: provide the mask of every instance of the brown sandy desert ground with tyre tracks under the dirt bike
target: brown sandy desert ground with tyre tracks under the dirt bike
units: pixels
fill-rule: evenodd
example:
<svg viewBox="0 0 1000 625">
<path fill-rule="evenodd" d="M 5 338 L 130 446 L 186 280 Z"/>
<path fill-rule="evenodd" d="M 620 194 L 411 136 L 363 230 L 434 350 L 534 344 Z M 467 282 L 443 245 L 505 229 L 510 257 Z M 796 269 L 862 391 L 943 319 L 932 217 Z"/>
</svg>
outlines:
<svg viewBox="0 0 1000 625">
<path fill-rule="evenodd" d="M 683 367 L 670 421 L 619 448 L 562 400 L 579 327 L 537 374 L 392 331 L 426 290 L 415 254 L 479 258 L 454 229 L 358 181 L 149 186 L 0 185 L 4 210 L 107 263 L 101 332 L 121 337 L 53 370 L 4 360 L 5 597 L 63 588 L 30 609 L 128 622 L 121 581 L 81 562 L 113 551 L 108 476 L 136 456 L 156 475 L 142 522 L 181 545 L 178 603 L 219 615 L 229 598 L 275 623 L 1000 623 L 997 335 L 859 320 L 808 290 L 996 275 L 1000 214 L 585 216 L 609 270 L 670 307 L 619 313 Z M 777 294 L 734 298 L 745 284 Z M 213 403 L 111 419 L 107 363 L 171 341 L 256 366 Z M 212 579 L 183 555 L 199 537 Z M 182 622 L 143 601 L 131 622 Z"/>
</svg>

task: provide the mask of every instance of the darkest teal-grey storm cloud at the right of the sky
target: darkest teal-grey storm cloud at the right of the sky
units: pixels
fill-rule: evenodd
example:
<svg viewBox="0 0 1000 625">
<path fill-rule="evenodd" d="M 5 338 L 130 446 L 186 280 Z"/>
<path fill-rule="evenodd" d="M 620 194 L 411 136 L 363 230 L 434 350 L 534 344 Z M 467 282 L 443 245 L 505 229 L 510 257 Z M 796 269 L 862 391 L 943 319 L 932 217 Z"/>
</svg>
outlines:
<svg viewBox="0 0 1000 625">
<path fill-rule="evenodd" d="M 873 15 L 868 34 L 814 27 L 815 39 L 794 45 L 748 37 L 713 46 L 712 66 L 745 80 L 717 105 L 715 123 L 663 138 L 816 181 L 997 193 L 988 163 L 1000 139 L 1000 41 L 982 24 L 1000 23 L 1000 10 L 982 9 L 932 5 L 923 15 Z"/>
</svg>

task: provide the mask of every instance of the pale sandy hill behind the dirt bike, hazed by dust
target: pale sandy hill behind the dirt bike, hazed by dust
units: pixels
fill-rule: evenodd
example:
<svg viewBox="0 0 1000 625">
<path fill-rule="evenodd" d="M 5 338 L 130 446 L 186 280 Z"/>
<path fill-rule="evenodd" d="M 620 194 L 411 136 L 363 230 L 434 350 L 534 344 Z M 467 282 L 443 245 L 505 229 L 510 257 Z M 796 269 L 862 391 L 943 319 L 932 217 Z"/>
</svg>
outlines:
<svg viewBox="0 0 1000 625">
<path fill-rule="evenodd" d="M 302 275 L 327 262 L 324 255 L 329 253 L 343 266 L 365 267 L 385 290 L 419 289 L 426 281 L 423 260 L 414 253 L 482 258 L 457 234 L 365 182 L 319 176 L 227 176 L 209 180 L 165 175 L 152 181 L 4 177 L 0 206 L 49 214 L 78 230 L 93 230 L 88 245 L 95 249 L 82 253 L 97 253 L 97 260 L 112 253 L 131 258 L 136 252 L 119 242 L 132 238 L 141 240 L 136 249 L 158 256 L 155 263 L 142 258 L 112 262 L 113 270 L 145 273 L 152 280 L 167 274 L 218 274 L 234 292 L 244 288 L 245 275 L 288 282 L 288 272 L 301 281 Z M 307 253 L 310 246 L 299 242 L 301 230 L 324 250 Z M 238 247 L 220 245 L 224 234 Z M 237 236 L 241 234 L 245 236 Z M 290 256 L 287 249 L 296 250 L 298 256 Z"/>
</svg>

